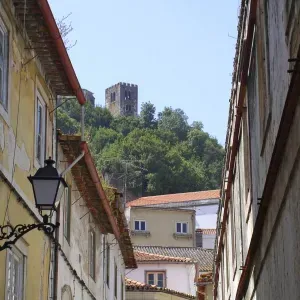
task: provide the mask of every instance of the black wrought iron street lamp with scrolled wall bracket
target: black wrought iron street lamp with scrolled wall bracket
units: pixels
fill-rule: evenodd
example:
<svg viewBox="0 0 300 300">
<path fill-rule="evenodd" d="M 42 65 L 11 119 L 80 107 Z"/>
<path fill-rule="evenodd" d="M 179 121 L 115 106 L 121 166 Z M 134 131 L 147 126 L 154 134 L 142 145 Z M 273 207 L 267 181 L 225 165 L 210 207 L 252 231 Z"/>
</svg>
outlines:
<svg viewBox="0 0 300 300">
<path fill-rule="evenodd" d="M 50 223 L 49 217 L 52 216 L 55 210 L 59 185 L 62 183 L 66 186 L 66 182 L 58 174 L 57 169 L 53 167 L 55 162 L 51 157 L 45 163 L 45 167 L 39 168 L 34 176 L 28 177 L 32 184 L 35 205 L 43 217 L 43 222 L 39 224 L 19 224 L 15 227 L 11 225 L 0 226 L 0 241 L 7 240 L 0 246 L 0 251 L 11 248 L 11 245 L 15 244 L 20 237 L 35 228 L 43 230 L 46 234 L 52 234 L 59 226 L 59 223 Z M 44 212 L 49 212 L 49 214 L 43 214 Z"/>
</svg>

